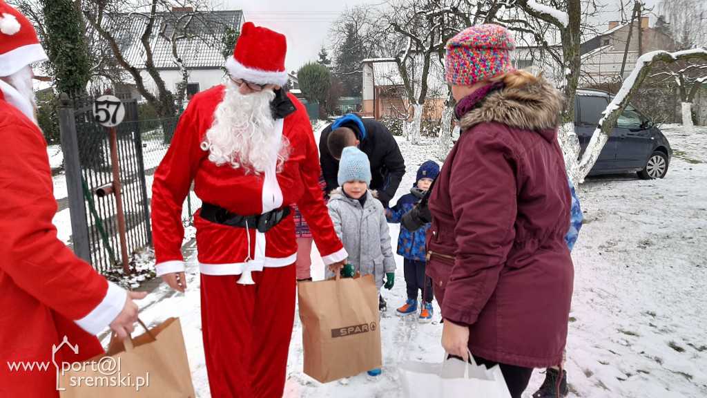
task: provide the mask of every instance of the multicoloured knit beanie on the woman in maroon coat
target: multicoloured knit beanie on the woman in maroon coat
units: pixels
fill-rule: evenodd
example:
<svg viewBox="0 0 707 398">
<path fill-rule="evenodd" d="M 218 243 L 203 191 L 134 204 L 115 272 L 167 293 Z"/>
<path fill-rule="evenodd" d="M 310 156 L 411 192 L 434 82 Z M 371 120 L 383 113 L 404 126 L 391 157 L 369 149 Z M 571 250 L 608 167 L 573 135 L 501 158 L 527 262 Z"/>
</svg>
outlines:
<svg viewBox="0 0 707 398">
<path fill-rule="evenodd" d="M 503 26 L 466 28 L 447 42 L 447 81 L 464 86 L 508 72 L 513 69 L 509 57 L 513 48 L 513 36 Z"/>
</svg>

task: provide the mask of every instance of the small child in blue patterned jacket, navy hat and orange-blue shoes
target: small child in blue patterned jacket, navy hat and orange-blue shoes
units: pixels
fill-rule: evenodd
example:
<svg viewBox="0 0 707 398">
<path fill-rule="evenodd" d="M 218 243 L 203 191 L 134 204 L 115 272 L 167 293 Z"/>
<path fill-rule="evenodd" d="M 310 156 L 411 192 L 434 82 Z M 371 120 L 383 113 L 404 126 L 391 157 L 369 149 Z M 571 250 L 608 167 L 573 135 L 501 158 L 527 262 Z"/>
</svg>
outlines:
<svg viewBox="0 0 707 398">
<path fill-rule="evenodd" d="M 440 166 L 434 161 L 426 161 L 417 170 L 416 188 L 427 191 L 432 181 L 440 173 Z M 391 209 L 385 210 L 387 222 L 399 223 L 402 216 L 412 210 L 417 198 L 412 193 L 403 195 Z M 407 284 L 407 301 L 398 308 L 395 313 L 398 315 L 417 313 L 417 295 L 421 292 L 422 303 L 420 305 L 419 322 L 430 322 L 432 320 L 432 280 L 425 275 L 426 250 L 425 236 L 430 224 L 410 232 L 402 225 L 400 226 L 400 236 L 398 237 L 397 254 L 403 256 L 405 283 Z"/>
</svg>

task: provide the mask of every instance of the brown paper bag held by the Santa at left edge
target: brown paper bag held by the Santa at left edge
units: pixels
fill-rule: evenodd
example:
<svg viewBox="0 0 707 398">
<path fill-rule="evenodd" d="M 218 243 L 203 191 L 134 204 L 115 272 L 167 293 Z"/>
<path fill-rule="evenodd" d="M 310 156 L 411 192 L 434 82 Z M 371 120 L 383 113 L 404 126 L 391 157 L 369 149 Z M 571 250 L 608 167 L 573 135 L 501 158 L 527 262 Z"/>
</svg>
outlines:
<svg viewBox="0 0 707 398">
<path fill-rule="evenodd" d="M 59 368 L 61 398 L 196 397 L 178 318 L 134 339 L 113 339 L 107 353 L 71 364 L 70 370 L 64 370 L 69 364 Z"/>
</svg>

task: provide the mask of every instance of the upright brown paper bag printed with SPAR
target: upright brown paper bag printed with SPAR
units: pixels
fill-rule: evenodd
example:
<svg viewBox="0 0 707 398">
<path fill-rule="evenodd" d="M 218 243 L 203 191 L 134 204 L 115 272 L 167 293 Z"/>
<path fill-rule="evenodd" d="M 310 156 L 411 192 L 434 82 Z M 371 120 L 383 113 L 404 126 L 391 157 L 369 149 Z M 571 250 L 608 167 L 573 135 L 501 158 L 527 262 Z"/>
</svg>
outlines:
<svg viewBox="0 0 707 398">
<path fill-rule="evenodd" d="M 307 375 L 331 382 L 381 367 L 373 275 L 298 283 L 297 290 Z"/>
</svg>

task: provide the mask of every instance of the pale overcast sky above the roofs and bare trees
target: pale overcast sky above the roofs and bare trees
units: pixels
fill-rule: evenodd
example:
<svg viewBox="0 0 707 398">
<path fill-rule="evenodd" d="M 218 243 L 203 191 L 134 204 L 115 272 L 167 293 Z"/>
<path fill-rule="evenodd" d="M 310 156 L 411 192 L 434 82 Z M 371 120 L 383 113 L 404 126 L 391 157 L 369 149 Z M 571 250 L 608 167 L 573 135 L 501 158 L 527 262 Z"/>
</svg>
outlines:
<svg viewBox="0 0 707 398">
<path fill-rule="evenodd" d="M 624 0 L 628 2 L 628 0 Z M 380 4 L 385 6 L 385 0 L 218 0 L 215 7 L 224 10 L 243 10 L 245 21 L 252 21 L 255 25 L 266 26 L 272 30 L 283 33 L 287 37 L 287 58 L 285 66 L 288 72 L 299 69 L 308 61 L 317 59 L 317 52 L 322 44 L 328 46 L 328 30 L 331 23 L 341 14 L 346 6 L 356 4 Z M 601 21 L 619 20 L 619 0 L 599 0 L 611 4 L 604 8 Z M 650 7 L 658 0 L 644 0 Z M 626 13 L 631 17 L 633 4 L 626 6 Z M 657 11 L 655 7 L 655 11 Z M 655 12 L 654 11 L 654 12 Z M 653 26 L 655 17 L 651 16 L 650 25 Z M 601 30 L 601 29 L 600 29 Z M 329 52 L 329 57 L 331 57 Z"/>
</svg>

